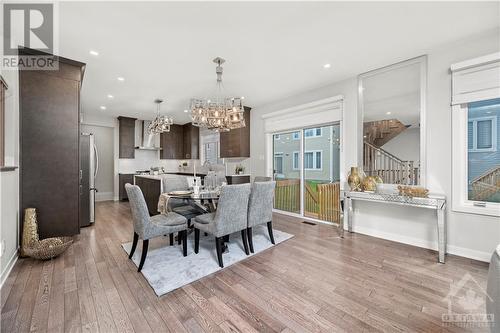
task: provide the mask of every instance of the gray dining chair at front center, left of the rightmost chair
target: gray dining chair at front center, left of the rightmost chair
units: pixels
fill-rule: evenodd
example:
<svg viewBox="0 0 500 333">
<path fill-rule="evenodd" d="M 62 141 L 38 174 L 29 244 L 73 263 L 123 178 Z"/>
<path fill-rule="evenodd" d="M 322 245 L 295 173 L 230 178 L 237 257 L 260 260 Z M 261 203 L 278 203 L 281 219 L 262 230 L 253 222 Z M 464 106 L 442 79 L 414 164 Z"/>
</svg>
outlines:
<svg viewBox="0 0 500 333">
<path fill-rule="evenodd" d="M 200 230 L 215 236 L 219 266 L 224 267 L 222 246 L 224 236 L 241 231 L 241 239 L 248 255 L 247 210 L 250 184 L 225 185 L 221 188 L 215 213 L 199 215 L 194 220 L 194 252 L 200 249 Z"/>
</svg>

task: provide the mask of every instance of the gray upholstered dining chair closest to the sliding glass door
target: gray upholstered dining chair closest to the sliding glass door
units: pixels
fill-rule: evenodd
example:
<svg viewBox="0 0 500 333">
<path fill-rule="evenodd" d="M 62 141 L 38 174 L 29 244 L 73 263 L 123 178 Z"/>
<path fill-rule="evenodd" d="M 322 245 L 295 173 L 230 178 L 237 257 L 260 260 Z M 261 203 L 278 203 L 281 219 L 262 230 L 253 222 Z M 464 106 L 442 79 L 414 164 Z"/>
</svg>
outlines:
<svg viewBox="0 0 500 333">
<path fill-rule="evenodd" d="M 248 244 L 250 252 L 253 253 L 252 228 L 261 224 L 267 224 L 267 231 L 271 243 L 274 244 L 273 235 L 273 202 L 274 187 L 276 182 L 254 182 L 252 184 L 252 193 L 248 201 Z"/>
</svg>

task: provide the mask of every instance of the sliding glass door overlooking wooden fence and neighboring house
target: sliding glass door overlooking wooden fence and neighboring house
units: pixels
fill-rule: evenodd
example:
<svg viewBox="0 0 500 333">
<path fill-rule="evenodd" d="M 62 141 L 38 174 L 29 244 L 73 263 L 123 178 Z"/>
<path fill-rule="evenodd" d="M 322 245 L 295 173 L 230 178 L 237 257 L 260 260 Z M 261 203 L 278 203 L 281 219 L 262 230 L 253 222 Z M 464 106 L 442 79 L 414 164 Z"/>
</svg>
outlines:
<svg viewBox="0 0 500 333">
<path fill-rule="evenodd" d="M 339 222 L 340 125 L 273 135 L 275 208 Z"/>
</svg>

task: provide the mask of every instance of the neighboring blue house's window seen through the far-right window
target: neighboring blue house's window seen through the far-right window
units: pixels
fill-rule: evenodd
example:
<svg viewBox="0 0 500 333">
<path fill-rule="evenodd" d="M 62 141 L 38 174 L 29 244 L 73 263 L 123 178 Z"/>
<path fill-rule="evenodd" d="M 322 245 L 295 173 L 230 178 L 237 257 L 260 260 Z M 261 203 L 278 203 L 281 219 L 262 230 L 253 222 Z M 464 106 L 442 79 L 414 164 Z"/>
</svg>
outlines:
<svg viewBox="0 0 500 333">
<path fill-rule="evenodd" d="M 478 114 L 491 114 L 493 111 L 481 112 L 478 103 L 469 105 L 469 121 L 467 126 L 467 147 L 469 152 L 495 151 L 497 148 L 494 138 L 497 137 L 497 118 L 474 118 Z"/>
</svg>

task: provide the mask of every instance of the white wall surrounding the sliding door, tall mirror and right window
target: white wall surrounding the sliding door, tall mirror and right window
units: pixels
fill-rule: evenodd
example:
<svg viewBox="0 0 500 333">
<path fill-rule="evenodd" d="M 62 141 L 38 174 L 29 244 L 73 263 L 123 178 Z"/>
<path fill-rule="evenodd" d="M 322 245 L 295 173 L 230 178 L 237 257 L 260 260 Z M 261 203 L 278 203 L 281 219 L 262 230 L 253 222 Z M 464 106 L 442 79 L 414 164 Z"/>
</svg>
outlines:
<svg viewBox="0 0 500 333">
<path fill-rule="evenodd" d="M 456 213 L 450 209 L 452 142 L 449 68 L 458 61 L 498 52 L 499 35 L 499 30 L 488 31 L 439 48 L 422 50 L 422 54 L 428 54 L 427 187 L 431 192 L 443 193 L 448 197 L 448 252 L 483 261 L 489 260 L 494 248 L 500 243 L 500 221 L 494 217 Z M 415 54 L 419 55 L 421 54 Z M 253 109 L 252 158 L 247 162 L 252 174 L 265 173 L 263 114 L 335 95 L 344 96 L 345 170 L 361 164 L 361 121 L 358 121 L 357 78 L 354 77 Z M 341 179 L 345 179 L 345 175 Z M 431 211 L 395 205 L 355 203 L 354 213 L 355 232 L 437 249 L 435 216 Z"/>
</svg>

